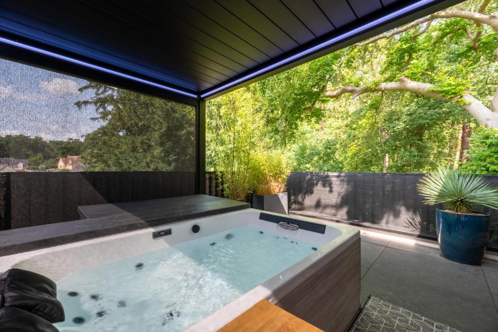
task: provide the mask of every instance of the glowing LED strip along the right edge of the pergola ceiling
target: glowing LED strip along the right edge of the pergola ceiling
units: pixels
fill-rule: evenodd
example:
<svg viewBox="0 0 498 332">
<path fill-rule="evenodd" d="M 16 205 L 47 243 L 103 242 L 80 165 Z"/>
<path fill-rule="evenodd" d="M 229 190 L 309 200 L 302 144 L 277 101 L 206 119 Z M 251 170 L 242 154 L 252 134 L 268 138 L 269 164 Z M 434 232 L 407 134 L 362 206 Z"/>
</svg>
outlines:
<svg viewBox="0 0 498 332">
<path fill-rule="evenodd" d="M 376 26 L 376 25 L 378 25 L 378 24 L 381 24 L 381 23 L 383 23 L 383 22 L 386 22 L 386 21 L 388 21 L 388 20 L 390 20 L 390 19 L 397 18 L 398 16 L 400 16 L 400 15 L 402 15 L 402 14 L 404 14 L 404 13 L 407 13 L 407 12 L 412 11 L 412 10 L 414 10 L 414 9 L 418 9 L 418 8 L 420 8 L 420 7 L 422 7 L 422 6 L 425 6 L 425 5 L 427 5 L 427 4 L 429 4 L 429 3 L 432 3 L 432 2 L 437 2 L 437 0 L 420 0 L 420 1 L 417 1 L 417 2 L 415 2 L 415 3 L 412 3 L 412 4 L 411 4 L 411 5 L 409 5 L 409 6 L 406 6 L 406 7 L 404 7 L 404 8 L 398 9 L 398 10 L 396 10 L 396 11 L 394 11 L 394 12 L 392 12 L 392 13 L 390 13 L 390 14 L 386 15 L 386 16 L 383 16 L 383 17 L 377 18 L 376 20 L 373 20 L 373 21 L 372 21 L 372 22 L 370 22 L 370 23 L 367 23 L 367 24 L 365 24 L 365 25 L 362 25 L 362 26 L 360 26 L 360 27 L 358 27 L 358 28 L 356 28 L 356 29 L 353 29 L 353 30 L 351 30 L 351 31 L 345 32 L 345 33 L 343 33 L 343 34 L 341 34 L 341 35 L 339 35 L 339 36 L 337 36 L 337 37 L 334 37 L 334 38 L 332 38 L 332 39 L 330 39 L 330 40 L 328 40 L 328 41 L 325 41 L 325 42 L 323 42 L 323 43 L 321 43 L 321 44 L 318 44 L 318 45 L 316 45 L 316 46 L 313 46 L 313 47 L 311 47 L 311 48 L 309 48 L 309 49 L 307 49 L 307 50 L 304 50 L 304 51 L 302 51 L 302 52 L 299 52 L 299 53 L 297 53 L 297 54 L 295 54 L 295 55 L 293 55 L 293 56 L 290 56 L 290 57 L 288 57 L 288 58 L 285 58 L 285 59 L 283 59 L 283 60 L 281 60 L 281 61 L 279 61 L 279 62 L 276 62 L 276 63 L 274 63 L 274 64 L 272 64 L 272 65 L 269 65 L 269 66 L 267 66 L 267 67 L 265 67 L 265 68 L 262 68 L 262 69 L 260 69 L 260 70 L 258 70 L 258 71 L 256 71 L 256 72 L 254 72 L 254 73 L 251 73 L 251 74 L 249 74 L 249 75 L 246 75 L 246 76 L 244 76 L 244 77 L 241 77 L 241 78 L 240 78 L 240 79 L 238 79 L 238 80 L 235 80 L 235 81 L 233 81 L 233 82 L 230 82 L 230 83 L 227 83 L 227 84 L 221 85 L 221 86 L 219 86 L 219 87 L 217 87 L 217 88 L 215 88 L 215 89 L 213 89 L 213 90 L 211 90 L 211 91 L 208 91 L 208 92 L 206 92 L 206 93 L 203 93 L 203 94 L 201 94 L 201 98 L 208 97 L 208 96 L 210 96 L 210 95 L 212 95 L 212 94 L 215 94 L 216 92 L 222 91 L 222 90 L 224 90 L 224 89 L 226 89 L 226 88 L 229 88 L 229 87 L 231 87 L 231 86 L 234 86 L 234 85 L 236 85 L 236 84 L 238 84 L 238 83 L 241 83 L 241 82 L 247 81 L 247 80 L 249 80 L 249 79 L 251 79 L 251 78 L 254 78 L 254 77 L 256 77 L 256 76 L 258 76 L 258 75 L 260 75 L 260 74 L 263 74 L 263 73 L 265 73 L 265 72 L 267 72 L 267 71 L 269 71 L 269 70 L 271 70 L 271 69 L 274 69 L 274 68 L 276 68 L 276 67 L 280 67 L 280 66 L 282 66 L 282 65 L 285 65 L 285 64 L 287 64 L 287 63 L 289 63 L 289 62 L 291 62 L 291 61 L 293 61 L 293 60 L 295 60 L 295 59 L 301 58 L 301 57 L 303 57 L 303 56 L 305 56 L 305 55 L 308 55 L 308 54 L 310 54 L 310 53 L 313 53 L 313 52 L 315 52 L 315 51 L 317 51 L 317 50 L 320 50 L 320 49 L 322 49 L 322 48 L 324 48 L 324 47 L 327 47 L 327 46 L 330 46 L 330 45 L 335 44 L 335 43 L 337 43 L 337 42 L 340 42 L 340 41 L 342 41 L 342 40 L 344 40 L 344 39 L 346 39 L 346 38 L 348 38 L 348 37 L 351 37 L 351 36 L 353 36 L 353 35 L 355 35 L 355 34 L 357 34 L 357 33 L 364 32 L 365 30 L 370 29 L 370 28 L 371 28 L 371 27 L 373 27 L 373 26 Z"/>
</svg>

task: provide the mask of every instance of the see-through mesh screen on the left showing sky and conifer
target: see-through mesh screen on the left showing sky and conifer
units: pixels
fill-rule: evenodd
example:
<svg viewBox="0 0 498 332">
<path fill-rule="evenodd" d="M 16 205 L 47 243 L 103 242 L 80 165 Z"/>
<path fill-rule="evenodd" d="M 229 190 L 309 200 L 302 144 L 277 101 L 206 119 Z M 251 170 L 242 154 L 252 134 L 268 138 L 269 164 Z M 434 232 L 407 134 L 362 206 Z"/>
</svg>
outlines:
<svg viewBox="0 0 498 332">
<path fill-rule="evenodd" d="M 0 59 L 4 170 L 195 169 L 195 108 Z"/>
</svg>

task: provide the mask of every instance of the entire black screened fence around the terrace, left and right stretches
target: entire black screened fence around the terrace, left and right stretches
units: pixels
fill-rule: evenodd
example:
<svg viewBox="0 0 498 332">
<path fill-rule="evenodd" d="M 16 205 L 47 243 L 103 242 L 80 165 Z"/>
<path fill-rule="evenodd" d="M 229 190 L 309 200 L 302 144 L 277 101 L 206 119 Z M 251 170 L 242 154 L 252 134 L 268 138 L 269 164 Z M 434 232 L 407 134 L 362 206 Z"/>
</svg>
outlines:
<svg viewBox="0 0 498 332">
<path fill-rule="evenodd" d="M 292 172 L 289 211 L 310 217 L 435 239 L 435 209 L 422 203 L 423 174 Z M 498 186 L 498 176 L 485 175 Z M 79 219 L 78 206 L 195 193 L 194 172 L 0 173 L 0 230 Z M 206 195 L 225 197 L 223 178 L 206 172 Z M 246 197 L 252 205 L 252 195 Z M 498 249 L 498 211 L 489 247 Z"/>
</svg>

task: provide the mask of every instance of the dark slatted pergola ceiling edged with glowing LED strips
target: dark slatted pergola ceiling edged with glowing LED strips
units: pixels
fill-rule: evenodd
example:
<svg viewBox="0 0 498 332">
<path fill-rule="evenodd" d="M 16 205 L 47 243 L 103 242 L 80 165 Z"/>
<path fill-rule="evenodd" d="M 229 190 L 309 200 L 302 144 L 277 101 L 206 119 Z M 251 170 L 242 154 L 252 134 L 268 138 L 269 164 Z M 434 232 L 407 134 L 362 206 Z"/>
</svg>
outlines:
<svg viewBox="0 0 498 332">
<path fill-rule="evenodd" d="M 204 98 L 456 2 L 0 0 L 0 41 Z"/>
</svg>

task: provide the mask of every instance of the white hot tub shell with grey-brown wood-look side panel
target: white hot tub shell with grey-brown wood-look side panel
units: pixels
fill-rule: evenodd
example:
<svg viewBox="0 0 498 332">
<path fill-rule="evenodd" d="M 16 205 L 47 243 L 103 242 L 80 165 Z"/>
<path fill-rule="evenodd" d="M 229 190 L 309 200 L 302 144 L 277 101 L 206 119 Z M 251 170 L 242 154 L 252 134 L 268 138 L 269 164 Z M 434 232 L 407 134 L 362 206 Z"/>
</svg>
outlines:
<svg viewBox="0 0 498 332">
<path fill-rule="evenodd" d="M 284 229 L 278 227 L 278 221 L 300 224 L 303 228 L 297 231 Z M 192 232 L 194 225 L 200 226 L 198 233 Z M 2 256 L 0 271 L 21 268 L 57 282 L 91 267 L 238 227 L 254 227 L 289 236 L 314 244 L 317 250 L 187 331 L 217 331 L 262 299 L 324 331 L 342 332 L 348 329 L 360 308 L 360 232 L 255 209 Z M 152 238 L 153 232 L 164 229 L 170 229 L 171 235 Z"/>
</svg>

